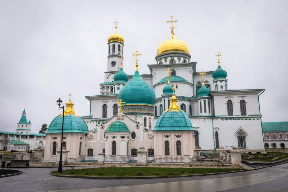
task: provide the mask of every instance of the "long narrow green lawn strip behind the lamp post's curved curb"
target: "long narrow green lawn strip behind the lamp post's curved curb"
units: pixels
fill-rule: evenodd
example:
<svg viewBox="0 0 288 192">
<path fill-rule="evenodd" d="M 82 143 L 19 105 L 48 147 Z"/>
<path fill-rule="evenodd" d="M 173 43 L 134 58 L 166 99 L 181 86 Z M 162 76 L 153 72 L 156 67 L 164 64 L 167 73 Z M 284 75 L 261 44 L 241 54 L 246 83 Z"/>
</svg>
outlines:
<svg viewBox="0 0 288 192">
<path fill-rule="evenodd" d="M 100 177 L 142 177 L 142 176 L 171 176 L 171 175 L 194 175 L 205 173 L 220 173 L 239 171 L 244 169 L 218 169 L 218 168 L 159 168 L 159 167 L 112 167 L 112 168 L 90 168 L 69 169 L 62 173 L 53 171 L 56 175 L 77 176 L 100 176 Z"/>
</svg>

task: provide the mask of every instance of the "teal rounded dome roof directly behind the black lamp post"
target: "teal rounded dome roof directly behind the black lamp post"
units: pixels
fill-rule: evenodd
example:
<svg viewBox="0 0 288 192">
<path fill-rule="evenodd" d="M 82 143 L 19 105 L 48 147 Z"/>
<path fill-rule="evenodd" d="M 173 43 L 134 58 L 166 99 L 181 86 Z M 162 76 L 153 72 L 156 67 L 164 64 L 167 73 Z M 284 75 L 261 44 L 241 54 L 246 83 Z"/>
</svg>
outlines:
<svg viewBox="0 0 288 192">
<path fill-rule="evenodd" d="M 62 118 L 62 114 L 55 117 L 55 119 L 50 123 L 46 133 L 61 133 Z M 74 115 L 73 113 L 64 115 L 64 133 L 88 133 L 88 131 L 88 127 L 81 117 Z"/>
</svg>

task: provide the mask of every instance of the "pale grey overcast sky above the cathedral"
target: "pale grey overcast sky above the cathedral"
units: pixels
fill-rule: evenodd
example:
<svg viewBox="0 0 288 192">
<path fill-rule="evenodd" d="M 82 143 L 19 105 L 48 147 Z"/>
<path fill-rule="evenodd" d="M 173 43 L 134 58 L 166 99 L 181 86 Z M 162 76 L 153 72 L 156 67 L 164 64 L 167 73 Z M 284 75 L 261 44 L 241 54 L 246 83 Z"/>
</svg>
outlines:
<svg viewBox="0 0 288 192">
<path fill-rule="evenodd" d="M 25 107 L 38 132 L 69 93 L 77 115 L 89 115 L 85 96 L 99 94 L 115 20 L 125 39 L 124 71 L 134 73 L 138 49 L 147 74 L 169 37 L 170 15 L 197 71 L 215 70 L 219 51 L 229 89 L 265 89 L 262 121 L 287 121 L 287 0 L 0 0 L 0 131 L 15 131 Z"/>
</svg>

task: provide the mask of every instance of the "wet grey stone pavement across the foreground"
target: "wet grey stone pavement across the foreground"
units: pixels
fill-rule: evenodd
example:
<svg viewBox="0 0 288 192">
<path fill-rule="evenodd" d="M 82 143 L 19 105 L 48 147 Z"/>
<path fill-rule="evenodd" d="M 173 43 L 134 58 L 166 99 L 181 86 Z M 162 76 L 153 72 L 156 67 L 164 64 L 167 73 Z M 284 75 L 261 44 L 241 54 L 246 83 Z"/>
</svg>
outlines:
<svg viewBox="0 0 288 192">
<path fill-rule="evenodd" d="M 0 178 L 1 192 L 104 192 L 104 191 L 287 191 L 287 163 L 240 173 L 211 176 L 99 180 L 54 177 L 57 168 L 13 168 L 22 174 Z"/>
</svg>

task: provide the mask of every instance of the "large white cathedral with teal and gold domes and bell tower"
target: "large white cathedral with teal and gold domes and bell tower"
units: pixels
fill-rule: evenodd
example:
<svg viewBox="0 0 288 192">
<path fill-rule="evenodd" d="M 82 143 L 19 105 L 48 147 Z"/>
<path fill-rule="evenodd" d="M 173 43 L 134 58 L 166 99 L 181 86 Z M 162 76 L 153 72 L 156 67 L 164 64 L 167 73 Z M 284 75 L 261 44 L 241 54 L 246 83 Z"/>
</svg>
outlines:
<svg viewBox="0 0 288 192">
<path fill-rule="evenodd" d="M 233 146 L 240 151 L 265 152 L 259 96 L 264 89 L 229 89 L 227 72 L 197 70 L 188 45 L 174 34 L 157 48 L 150 73 L 125 73 L 124 38 L 115 33 L 107 40 L 107 71 L 99 93 L 86 96 L 87 116 L 76 115 L 65 103 L 63 148 L 69 155 L 136 155 L 144 147 L 148 155 L 194 155 L 194 149 L 217 151 Z M 222 66 L 227 65 L 223 64 Z M 46 132 L 45 154 L 61 146 L 62 114 Z"/>
</svg>

